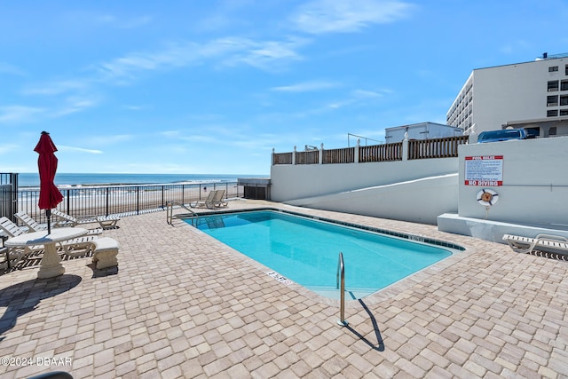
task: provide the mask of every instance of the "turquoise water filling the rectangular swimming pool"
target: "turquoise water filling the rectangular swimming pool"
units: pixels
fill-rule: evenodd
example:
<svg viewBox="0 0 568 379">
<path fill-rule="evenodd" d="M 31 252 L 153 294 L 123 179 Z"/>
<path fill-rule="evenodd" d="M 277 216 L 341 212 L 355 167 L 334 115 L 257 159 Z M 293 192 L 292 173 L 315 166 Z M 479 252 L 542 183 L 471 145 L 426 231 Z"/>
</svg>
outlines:
<svg viewBox="0 0 568 379">
<path fill-rule="evenodd" d="M 201 216 L 204 233 L 322 296 L 336 298 L 339 253 L 345 290 L 360 298 L 422 270 L 452 252 L 438 246 L 259 210 Z"/>
</svg>

